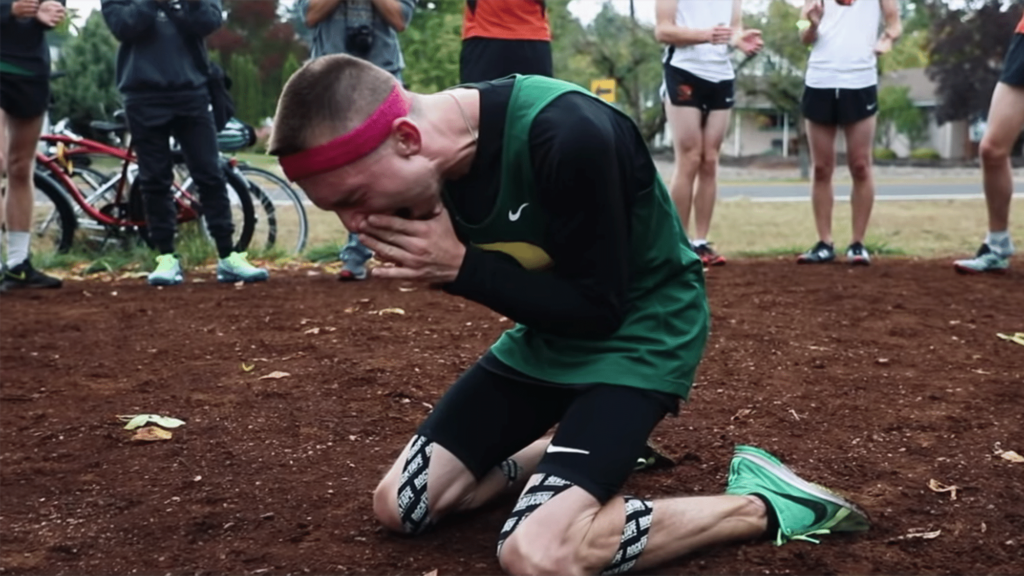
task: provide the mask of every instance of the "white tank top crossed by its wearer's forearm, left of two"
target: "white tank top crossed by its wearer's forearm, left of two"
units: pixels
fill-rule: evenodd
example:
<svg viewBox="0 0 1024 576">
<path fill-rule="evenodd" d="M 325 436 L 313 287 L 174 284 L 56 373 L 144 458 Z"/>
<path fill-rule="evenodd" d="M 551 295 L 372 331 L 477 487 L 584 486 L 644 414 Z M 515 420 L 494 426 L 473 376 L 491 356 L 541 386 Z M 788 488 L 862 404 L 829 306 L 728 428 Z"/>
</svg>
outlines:
<svg viewBox="0 0 1024 576">
<path fill-rule="evenodd" d="M 678 0 L 676 26 L 683 28 L 714 28 L 732 24 L 732 0 Z M 694 76 L 711 82 L 732 80 L 736 73 L 729 60 L 727 44 L 692 44 L 669 46 L 666 59 Z"/>
</svg>

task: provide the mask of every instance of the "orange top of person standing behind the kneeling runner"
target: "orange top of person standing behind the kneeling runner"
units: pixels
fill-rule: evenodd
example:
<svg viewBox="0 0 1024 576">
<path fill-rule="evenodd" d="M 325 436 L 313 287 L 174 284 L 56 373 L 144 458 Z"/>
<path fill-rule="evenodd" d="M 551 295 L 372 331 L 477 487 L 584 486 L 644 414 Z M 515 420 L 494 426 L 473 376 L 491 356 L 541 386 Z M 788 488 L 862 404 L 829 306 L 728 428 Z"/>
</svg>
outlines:
<svg viewBox="0 0 1024 576">
<path fill-rule="evenodd" d="M 466 0 L 462 39 L 548 40 L 551 28 L 544 0 Z"/>
</svg>

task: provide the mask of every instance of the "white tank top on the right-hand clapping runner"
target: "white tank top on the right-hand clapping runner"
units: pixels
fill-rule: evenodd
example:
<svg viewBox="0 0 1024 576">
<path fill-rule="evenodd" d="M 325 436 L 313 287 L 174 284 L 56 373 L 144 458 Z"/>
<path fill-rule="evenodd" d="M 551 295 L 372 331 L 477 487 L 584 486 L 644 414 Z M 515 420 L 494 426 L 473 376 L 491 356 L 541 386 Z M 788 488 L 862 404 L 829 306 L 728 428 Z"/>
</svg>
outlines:
<svg viewBox="0 0 1024 576">
<path fill-rule="evenodd" d="M 811 88 L 866 88 L 879 83 L 874 43 L 882 18 L 880 0 L 842 6 L 824 0 L 818 39 L 807 60 Z"/>
</svg>

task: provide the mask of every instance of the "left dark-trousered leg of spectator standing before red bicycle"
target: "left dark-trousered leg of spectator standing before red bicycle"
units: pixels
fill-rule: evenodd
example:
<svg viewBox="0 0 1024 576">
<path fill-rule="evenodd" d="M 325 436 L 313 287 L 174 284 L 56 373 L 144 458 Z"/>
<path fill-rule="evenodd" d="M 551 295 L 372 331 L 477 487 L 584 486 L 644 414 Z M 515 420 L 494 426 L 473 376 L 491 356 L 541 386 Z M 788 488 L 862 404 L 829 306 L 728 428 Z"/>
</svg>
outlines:
<svg viewBox="0 0 1024 576">
<path fill-rule="evenodd" d="M 150 241 L 161 254 L 173 254 L 177 210 L 171 194 L 174 165 L 170 122 L 146 126 L 129 109 L 128 127 L 138 161 L 138 192 L 142 194 Z"/>
</svg>

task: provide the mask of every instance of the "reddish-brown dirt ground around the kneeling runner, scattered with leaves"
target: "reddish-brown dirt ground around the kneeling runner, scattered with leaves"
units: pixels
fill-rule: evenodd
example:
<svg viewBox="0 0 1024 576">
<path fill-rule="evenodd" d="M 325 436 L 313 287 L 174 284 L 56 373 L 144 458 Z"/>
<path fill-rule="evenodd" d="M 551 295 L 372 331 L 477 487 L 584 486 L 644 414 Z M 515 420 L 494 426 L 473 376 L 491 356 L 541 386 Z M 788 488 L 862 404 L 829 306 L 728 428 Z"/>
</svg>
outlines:
<svg viewBox="0 0 1024 576">
<path fill-rule="evenodd" d="M 371 494 L 508 320 L 423 286 L 307 271 L 241 288 L 143 283 L 0 297 L 0 572 L 499 572 L 511 500 L 410 539 L 376 525 Z M 709 294 L 691 402 L 654 434 L 680 463 L 628 491 L 718 493 L 733 445 L 750 443 L 874 527 L 654 573 L 1024 571 L 1024 463 L 995 455 L 1024 454 L 1024 346 L 995 335 L 1024 332 L 1024 273 L 734 261 L 710 273 Z M 274 371 L 289 375 L 264 378 Z M 115 415 L 136 413 L 187 423 L 132 442 Z"/>
</svg>

